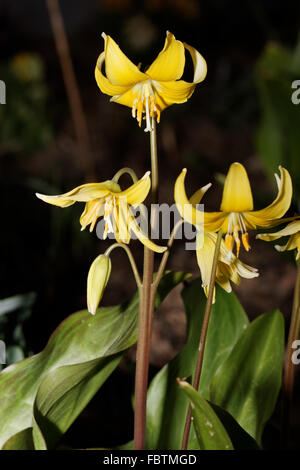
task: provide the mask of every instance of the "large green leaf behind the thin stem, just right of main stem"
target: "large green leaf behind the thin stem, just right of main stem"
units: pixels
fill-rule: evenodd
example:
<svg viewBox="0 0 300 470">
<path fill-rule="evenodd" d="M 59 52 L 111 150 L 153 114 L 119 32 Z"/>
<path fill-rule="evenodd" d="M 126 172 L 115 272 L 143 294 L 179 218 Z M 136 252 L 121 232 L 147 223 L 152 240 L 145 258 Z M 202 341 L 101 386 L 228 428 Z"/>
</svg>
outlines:
<svg viewBox="0 0 300 470">
<path fill-rule="evenodd" d="M 182 292 L 187 315 L 187 340 L 183 350 L 152 380 L 147 396 L 147 448 L 180 449 L 188 400 L 178 388 L 177 377 L 191 378 L 197 360 L 206 298 L 201 280 Z M 217 368 L 226 360 L 239 336 L 247 328 L 247 316 L 234 293 L 217 287 L 212 308 L 200 382 L 201 395 L 209 399 L 209 385 Z M 189 448 L 194 448 L 191 434 Z"/>
</svg>

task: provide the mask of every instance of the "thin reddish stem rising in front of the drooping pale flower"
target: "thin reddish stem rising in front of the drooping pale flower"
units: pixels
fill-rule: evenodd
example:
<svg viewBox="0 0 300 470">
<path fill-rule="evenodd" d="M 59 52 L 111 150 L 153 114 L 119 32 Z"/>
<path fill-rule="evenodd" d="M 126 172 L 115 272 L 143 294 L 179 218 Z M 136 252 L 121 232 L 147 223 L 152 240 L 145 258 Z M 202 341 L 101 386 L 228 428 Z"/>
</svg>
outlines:
<svg viewBox="0 0 300 470">
<path fill-rule="evenodd" d="M 199 342 L 199 352 L 198 352 L 196 370 L 195 370 L 194 381 L 193 381 L 193 387 L 195 390 L 198 390 L 199 383 L 200 383 L 207 330 L 208 330 L 210 313 L 211 313 L 213 297 L 214 297 L 214 289 L 215 289 L 217 265 L 218 265 L 221 241 L 222 241 L 222 230 L 219 230 L 217 240 L 216 240 L 212 269 L 211 269 L 208 296 L 207 296 L 206 307 L 205 307 L 205 312 L 204 312 L 204 318 L 203 318 L 203 324 L 202 324 L 200 342 Z M 186 421 L 185 421 L 184 432 L 183 432 L 182 447 L 181 447 L 182 450 L 187 449 L 187 446 L 188 446 L 189 434 L 190 434 L 190 428 L 191 428 L 191 417 L 192 417 L 191 408 L 189 407 Z"/>
</svg>

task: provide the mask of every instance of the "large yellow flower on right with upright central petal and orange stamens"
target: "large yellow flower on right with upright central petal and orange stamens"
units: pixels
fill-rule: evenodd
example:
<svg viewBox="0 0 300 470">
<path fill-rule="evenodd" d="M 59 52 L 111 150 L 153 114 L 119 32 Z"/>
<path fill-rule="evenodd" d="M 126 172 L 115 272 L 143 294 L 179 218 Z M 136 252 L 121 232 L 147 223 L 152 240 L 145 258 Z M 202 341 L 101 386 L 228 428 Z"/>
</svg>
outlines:
<svg viewBox="0 0 300 470">
<path fill-rule="evenodd" d="M 193 225 L 201 225 L 203 220 L 205 231 L 217 232 L 222 229 L 225 243 L 229 251 L 232 251 L 234 242 L 237 247 L 237 256 L 240 250 L 241 232 L 242 243 L 248 251 L 248 230 L 258 227 L 268 228 L 281 224 L 281 217 L 289 209 L 292 199 L 292 181 L 289 172 L 279 167 L 280 178 L 275 175 L 278 184 L 278 195 L 269 206 L 264 209 L 253 210 L 252 191 L 247 172 L 240 163 L 233 163 L 225 179 L 220 212 L 200 212 L 189 204 L 184 180 L 186 169 L 182 170 L 175 184 L 175 202 L 178 210 L 185 220 Z M 202 216 L 202 219 L 201 219 Z M 290 220 L 290 219 L 285 219 Z M 203 225 L 202 225 L 203 228 Z"/>
</svg>

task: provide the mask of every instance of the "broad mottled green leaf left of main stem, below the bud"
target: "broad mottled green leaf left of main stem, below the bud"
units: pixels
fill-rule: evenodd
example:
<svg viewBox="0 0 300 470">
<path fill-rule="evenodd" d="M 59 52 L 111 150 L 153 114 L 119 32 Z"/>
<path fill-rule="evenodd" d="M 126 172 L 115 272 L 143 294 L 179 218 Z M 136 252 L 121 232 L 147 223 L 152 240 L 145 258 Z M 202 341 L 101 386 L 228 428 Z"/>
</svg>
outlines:
<svg viewBox="0 0 300 470">
<path fill-rule="evenodd" d="M 161 282 L 164 295 L 165 281 L 171 290 L 176 284 L 170 279 L 181 282 L 185 276 L 168 273 Z M 124 305 L 98 309 L 95 316 L 77 312 L 60 324 L 41 353 L 4 369 L 0 447 L 29 427 L 37 448 L 44 446 L 41 429 L 48 447 L 54 445 L 118 365 L 122 352 L 136 342 L 137 316 L 137 295 Z"/>
</svg>

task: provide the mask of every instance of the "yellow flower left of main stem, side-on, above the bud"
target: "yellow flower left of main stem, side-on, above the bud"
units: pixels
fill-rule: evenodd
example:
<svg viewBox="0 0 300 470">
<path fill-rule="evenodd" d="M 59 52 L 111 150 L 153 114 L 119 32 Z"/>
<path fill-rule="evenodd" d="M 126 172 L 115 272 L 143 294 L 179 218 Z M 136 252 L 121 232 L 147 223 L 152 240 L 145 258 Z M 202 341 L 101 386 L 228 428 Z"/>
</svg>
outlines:
<svg viewBox="0 0 300 470">
<path fill-rule="evenodd" d="M 146 199 L 151 186 L 149 175 L 150 172 L 147 172 L 143 178 L 124 191 L 118 183 L 108 180 L 103 183 L 83 184 L 58 196 L 38 193 L 36 196 L 59 207 L 68 207 L 75 202 L 85 202 L 85 209 L 80 217 L 81 230 L 90 225 L 91 232 L 98 218 L 103 217 L 105 220 L 103 239 L 108 233 L 114 233 L 117 241 L 129 243 L 132 230 L 150 250 L 162 253 L 166 247 L 158 246 L 147 238 L 130 210 L 131 205 L 137 207 Z"/>
</svg>

